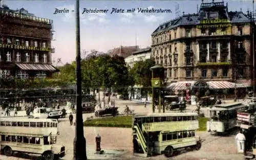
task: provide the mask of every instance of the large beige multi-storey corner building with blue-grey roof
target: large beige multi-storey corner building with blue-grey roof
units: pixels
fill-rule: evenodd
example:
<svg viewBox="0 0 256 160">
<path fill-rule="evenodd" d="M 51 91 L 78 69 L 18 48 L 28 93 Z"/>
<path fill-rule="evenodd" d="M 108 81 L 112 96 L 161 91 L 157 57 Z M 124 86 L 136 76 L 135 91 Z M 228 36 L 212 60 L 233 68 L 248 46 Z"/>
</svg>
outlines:
<svg viewBox="0 0 256 160">
<path fill-rule="evenodd" d="M 160 25 L 152 34 L 152 59 L 169 82 L 229 81 L 251 84 L 251 14 L 228 11 L 224 2 L 201 4 L 195 14 Z"/>
</svg>

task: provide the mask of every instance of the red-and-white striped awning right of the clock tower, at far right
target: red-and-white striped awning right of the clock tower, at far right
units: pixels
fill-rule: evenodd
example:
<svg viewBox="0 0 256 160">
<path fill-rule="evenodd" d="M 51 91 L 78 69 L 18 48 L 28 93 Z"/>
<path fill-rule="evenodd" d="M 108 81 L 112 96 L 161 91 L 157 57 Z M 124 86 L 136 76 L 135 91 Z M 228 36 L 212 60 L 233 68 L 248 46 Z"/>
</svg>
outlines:
<svg viewBox="0 0 256 160">
<path fill-rule="evenodd" d="M 226 88 L 243 88 L 246 84 L 236 84 L 228 81 L 208 81 L 206 82 L 211 89 L 226 89 Z"/>
</svg>

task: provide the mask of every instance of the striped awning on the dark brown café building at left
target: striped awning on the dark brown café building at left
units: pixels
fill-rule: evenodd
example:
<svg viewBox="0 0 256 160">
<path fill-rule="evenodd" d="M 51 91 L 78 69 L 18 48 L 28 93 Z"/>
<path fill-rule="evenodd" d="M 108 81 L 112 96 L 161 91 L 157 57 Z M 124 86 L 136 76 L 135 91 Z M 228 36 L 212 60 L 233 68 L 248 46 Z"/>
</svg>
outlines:
<svg viewBox="0 0 256 160">
<path fill-rule="evenodd" d="M 16 65 L 25 71 L 57 71 L 57 69 L 51 64 L 27 64 L 27 63 L 16 63 Z"/>
</svg>

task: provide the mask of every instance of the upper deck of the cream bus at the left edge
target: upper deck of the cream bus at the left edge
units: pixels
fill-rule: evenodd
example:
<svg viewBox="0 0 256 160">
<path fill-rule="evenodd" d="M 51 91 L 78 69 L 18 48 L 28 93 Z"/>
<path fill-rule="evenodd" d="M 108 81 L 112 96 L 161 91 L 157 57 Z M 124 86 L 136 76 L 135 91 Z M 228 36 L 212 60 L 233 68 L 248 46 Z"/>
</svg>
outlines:
<svg viewBox="0 0 256 160">
<path fill-rule="evenodd" d="M 58 121 L 55 119 L 1 118 L 0 132 L 56 135 L 58 134 Z"/>
</svg>

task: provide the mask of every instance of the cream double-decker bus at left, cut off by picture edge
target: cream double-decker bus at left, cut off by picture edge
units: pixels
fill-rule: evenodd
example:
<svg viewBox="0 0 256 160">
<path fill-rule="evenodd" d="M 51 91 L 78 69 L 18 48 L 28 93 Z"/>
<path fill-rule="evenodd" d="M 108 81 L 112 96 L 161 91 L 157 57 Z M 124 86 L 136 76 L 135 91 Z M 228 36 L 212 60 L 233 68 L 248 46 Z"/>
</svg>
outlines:
<svg viewBox="0 0 256 160">
<path fill-rule="evenodd" d="M 65 147 L 56 145 L 58 121 L 54 119 L 2 118 L 0 119 L 1 153 L 40 154 L 45 160 L 65 156 Z"/>
</svg>

